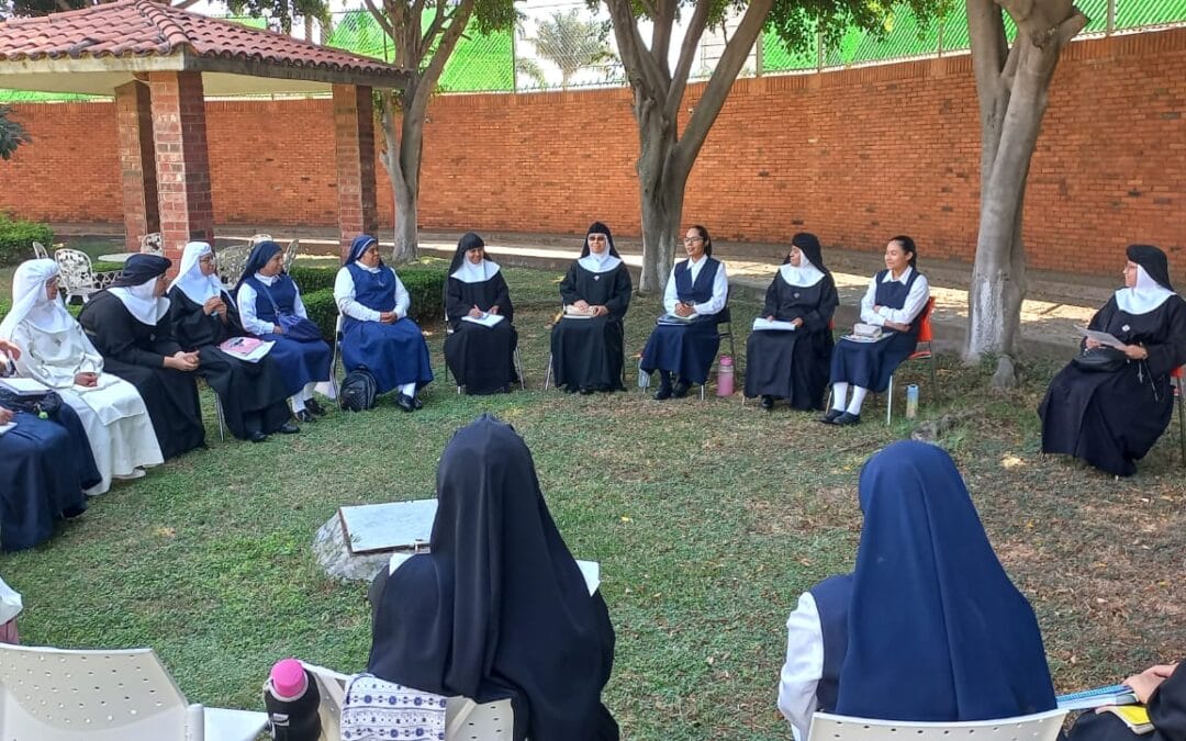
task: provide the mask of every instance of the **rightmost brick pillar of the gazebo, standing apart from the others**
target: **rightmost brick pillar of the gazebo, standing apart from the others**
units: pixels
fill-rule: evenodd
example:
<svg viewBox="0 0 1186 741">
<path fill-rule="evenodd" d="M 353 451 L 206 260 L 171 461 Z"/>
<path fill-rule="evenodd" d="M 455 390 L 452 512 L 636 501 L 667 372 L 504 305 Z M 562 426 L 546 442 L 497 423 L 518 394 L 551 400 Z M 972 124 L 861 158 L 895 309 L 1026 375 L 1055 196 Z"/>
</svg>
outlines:
<svg viewBox="0 0 1186 741">
<path fill-rule="evenodd" d="M 338 226 L 345 256 L 356 236 L 378 231 L 375 102 L 370 88 L 333 85 L 333 149 L 338 170 Z"/>
</svg>

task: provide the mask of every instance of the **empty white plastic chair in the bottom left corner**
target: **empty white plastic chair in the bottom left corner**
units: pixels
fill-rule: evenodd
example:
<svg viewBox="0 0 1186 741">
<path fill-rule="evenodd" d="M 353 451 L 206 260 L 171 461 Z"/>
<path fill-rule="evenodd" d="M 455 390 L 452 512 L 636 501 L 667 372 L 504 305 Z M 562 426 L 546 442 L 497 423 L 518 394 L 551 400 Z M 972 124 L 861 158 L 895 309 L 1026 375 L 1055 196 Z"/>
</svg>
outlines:
<svg viewBox="0 0 1186 741">
<path fill-rule="evenodd" d="M 152 649 L 0 644 L 0 737 L 253 741 L 267 714 L 190 704 Z"/>
</svg>

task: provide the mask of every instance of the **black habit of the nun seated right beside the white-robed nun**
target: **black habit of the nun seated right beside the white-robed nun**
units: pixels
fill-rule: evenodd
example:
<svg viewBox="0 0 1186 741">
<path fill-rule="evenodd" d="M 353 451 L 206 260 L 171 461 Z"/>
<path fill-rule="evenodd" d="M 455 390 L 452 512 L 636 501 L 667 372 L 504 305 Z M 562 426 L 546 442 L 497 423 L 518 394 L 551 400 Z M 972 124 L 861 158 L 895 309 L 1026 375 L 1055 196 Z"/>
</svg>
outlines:
<svg viewBox="0 0 1186 741">
<path fill-rule="evenodd" d="M 165 356 L 181 350 L 167 314 L 146 325 L 114 294 L 100 290 L 83 306 L 78 324 L 102 353 L 103 371 L 140 391 L 165 460 L 205 445 L 193 375 L 165 368 Z"/>
</svg>

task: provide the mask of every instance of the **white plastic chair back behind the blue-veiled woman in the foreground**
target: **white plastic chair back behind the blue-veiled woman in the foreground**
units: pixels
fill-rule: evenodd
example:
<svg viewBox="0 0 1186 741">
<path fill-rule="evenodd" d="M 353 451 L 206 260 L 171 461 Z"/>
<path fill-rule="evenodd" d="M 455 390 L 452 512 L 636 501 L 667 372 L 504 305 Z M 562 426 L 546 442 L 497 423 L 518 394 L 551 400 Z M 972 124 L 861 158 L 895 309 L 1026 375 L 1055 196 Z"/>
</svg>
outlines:
<svg viewBox="0 0 1186 741">
<path fill-rule="evenodd" d="M 811 716 L 808 741 L 1054 741 L 1066 710 L 1047 710 L 994 721 L 932 723 L 922 721 L 878 721 L 831 713 Z"/>
</svg>

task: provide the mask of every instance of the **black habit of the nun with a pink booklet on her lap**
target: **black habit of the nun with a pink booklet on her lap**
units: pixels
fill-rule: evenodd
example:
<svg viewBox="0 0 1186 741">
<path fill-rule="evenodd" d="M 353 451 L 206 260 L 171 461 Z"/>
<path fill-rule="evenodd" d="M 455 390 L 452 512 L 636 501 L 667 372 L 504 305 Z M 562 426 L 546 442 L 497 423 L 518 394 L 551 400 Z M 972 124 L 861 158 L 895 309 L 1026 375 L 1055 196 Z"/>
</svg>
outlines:
<svg viewBox="0 0 1186 741">
<path fill-rule="evenodd" d="M 264 356 L 259 363 L 248 363 L 218 349 L 227 339 L 248 334 L 230 295 L 222 294 L 225 321 L 221 315 L 206 314 L 178 287 L 168 292 L 168 299 L 173 334 L 183 349 L 198 351 L 197 372 L 218 395 L 231 434 L 240 440 L 247 440 L 253 432 L 270 435 L 288 422 L 288 396 L 275 362 Z"/>
</svg>

